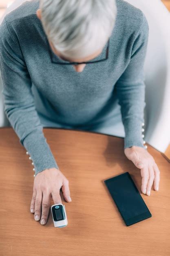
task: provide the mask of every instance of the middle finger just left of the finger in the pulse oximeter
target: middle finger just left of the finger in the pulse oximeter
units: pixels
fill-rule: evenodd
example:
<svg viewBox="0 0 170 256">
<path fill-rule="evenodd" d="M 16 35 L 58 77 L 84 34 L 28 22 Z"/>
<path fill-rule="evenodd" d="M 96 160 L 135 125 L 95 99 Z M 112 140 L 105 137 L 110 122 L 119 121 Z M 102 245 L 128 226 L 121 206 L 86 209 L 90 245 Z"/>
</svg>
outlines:
<svg viewBox="0 0 170 256">
<path fill-rule="evenodd" d="M 40 223 L 44 225 L 47 221 L 49 215 L 49 208 L 50 208 L 50 198 L 51 193 L 47 191 L 42 191 L 42 215 Z"/>
</svg>

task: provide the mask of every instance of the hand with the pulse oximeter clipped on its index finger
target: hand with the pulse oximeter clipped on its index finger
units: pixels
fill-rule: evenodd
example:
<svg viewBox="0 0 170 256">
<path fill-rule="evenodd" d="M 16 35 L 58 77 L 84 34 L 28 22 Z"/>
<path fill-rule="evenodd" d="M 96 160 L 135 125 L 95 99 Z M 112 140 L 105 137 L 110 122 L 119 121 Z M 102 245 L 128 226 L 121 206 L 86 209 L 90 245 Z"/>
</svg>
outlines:
<svg viewBox="0 0 170 256">
<path fill-rule="evenodd" d="M 71 202 L 68 183 L 66 177 L 57 168 L 46 169 L 35 176 L 30 207 L 31 213 L 34 213 L 35 220 L 40 220 L 41 218 L 40 223 L 42 225 L 46 224 L 51 197 L 54 204 L 62 203 L 60 197 L 61 187 L 64 199 L 67 202 Z"/>
</svg>

